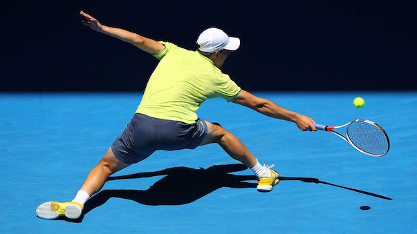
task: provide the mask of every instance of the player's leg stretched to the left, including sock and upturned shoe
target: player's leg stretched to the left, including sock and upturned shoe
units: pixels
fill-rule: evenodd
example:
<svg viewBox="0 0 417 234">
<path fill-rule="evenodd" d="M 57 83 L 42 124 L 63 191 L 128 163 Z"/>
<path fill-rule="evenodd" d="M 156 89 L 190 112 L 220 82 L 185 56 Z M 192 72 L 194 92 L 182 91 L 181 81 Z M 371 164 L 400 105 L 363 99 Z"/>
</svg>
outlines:
<svg viewBox="0 0 417 234">
<path fill-rule="evenodd" d="M 100 191 L 107 177 L 129 165 L 115 157 L 110 147 L 98 165 L 87 175 L 84 184 L 72 202 L 44 202 L 36 209 L 37 216 L 47 220 L 53 220 L 59 216 L 77 219 L 82 213 L 86 200 Z"/>
</svg>

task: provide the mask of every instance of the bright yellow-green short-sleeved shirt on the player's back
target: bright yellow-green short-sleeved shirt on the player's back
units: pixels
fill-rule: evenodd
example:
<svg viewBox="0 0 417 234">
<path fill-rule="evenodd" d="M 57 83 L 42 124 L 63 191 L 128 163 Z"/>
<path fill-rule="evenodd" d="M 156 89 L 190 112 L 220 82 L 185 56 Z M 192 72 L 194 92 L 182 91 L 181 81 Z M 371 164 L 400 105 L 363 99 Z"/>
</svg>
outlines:
<svg viewBox="0 0 417 234">
<path fill-rule="evenodd" d="M 194 124 L 196 110 L 206 99 L 223 97 L 232 101 L 241 94 L 241 88 L 198 51 L 160 43 L 165 48 L 154 55 L 160 62 L 136 113 Z"/>
</svg>

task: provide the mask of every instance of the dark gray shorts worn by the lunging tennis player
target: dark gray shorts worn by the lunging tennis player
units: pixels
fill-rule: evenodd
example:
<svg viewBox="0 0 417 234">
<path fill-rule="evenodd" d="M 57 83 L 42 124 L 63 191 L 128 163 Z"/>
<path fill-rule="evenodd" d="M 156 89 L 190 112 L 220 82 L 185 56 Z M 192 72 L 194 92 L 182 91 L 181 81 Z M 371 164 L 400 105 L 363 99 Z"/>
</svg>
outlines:
<svg viewBox="0 0 417 234">
<path fill-rule="evenodd" d="M 134 164 L 155 150 L 196 148 L 206 135 L 207 125 L 203 119 L 186 124 L 136 113 L 111 148 L 122 162 Z"/>
</svg>

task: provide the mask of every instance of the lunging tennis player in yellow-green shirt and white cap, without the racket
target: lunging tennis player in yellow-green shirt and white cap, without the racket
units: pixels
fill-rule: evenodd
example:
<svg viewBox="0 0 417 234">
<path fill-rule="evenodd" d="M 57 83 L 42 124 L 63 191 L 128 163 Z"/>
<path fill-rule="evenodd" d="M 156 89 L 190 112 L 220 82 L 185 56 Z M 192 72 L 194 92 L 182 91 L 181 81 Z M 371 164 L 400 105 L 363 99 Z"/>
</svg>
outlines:
<svg viewBox="0 0 417 234">
<path fill-rule="evenodd" d="M 84 203 L 100 191 L 109 175 L 149 157 L 155 150 L 180 150 L 205 144 L 219 144 L 232 158 L 239 160 L 258 177 L 257 190 L 272 191 L 279 174 L 272 166 L 263 166 L 242 142 L 220 124 L 199 119 L 196 110 L 206 99 L 222 97 L 273 117 L 293 121 L 301 130 L 316 130 L 313 119 L 277 106 L 268 99 L 242 90 L 220 68 L 240 39 L 228 37 L 218 28 L 209 28 L 197 39 L 198 50 L 180 48 L 173 43 L 154 41 L 120 28 L 102 25 L 89 14 L 85 26 L 111 37 L 127 41 L 159 59 L 135 115 L 110 146 L 99 164 L 86 177 L 71 202 L 45 202 L 37 215 L 55 219 L 65 215 L 80 217 Z"/>
</svg>

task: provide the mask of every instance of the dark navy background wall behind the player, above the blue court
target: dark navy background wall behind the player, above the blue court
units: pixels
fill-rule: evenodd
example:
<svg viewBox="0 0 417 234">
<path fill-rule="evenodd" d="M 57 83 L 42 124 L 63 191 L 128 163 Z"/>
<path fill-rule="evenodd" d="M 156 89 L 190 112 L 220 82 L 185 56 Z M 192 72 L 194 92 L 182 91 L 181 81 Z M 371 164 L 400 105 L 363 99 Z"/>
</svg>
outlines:
<svg viewBox="0 0 417 234">
<path fill-rule="evenodd" d="M 143 90 L 157 60 L 82 25 L 195 50 L 241 38 L 223 72 L 246 90 L 416 90 L 416 1 L 13 1 L 1 9 L 1 91 Z"/>
</svg>

